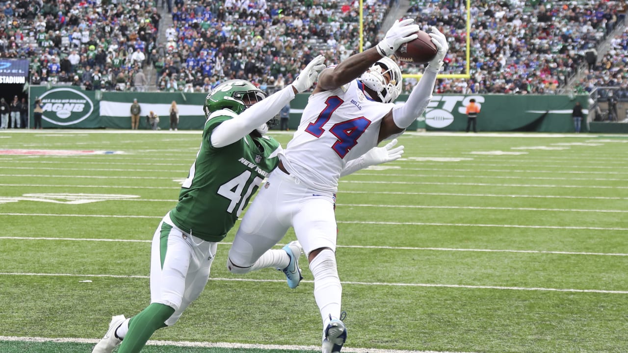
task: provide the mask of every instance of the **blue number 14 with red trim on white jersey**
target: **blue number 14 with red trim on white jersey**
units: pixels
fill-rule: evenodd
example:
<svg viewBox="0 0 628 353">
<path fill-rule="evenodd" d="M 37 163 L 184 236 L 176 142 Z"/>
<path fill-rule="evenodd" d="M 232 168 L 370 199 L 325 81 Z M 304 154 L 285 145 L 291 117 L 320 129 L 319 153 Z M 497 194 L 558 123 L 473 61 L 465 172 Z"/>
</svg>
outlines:
<svg viewBox="0 0 628 353">
<path fill-rule="evenodd" d="M 310 122 L 305 131 L 312 134 L 316 138 L 320 138 L 320 136 L 325 132 L 323 125 L 329 121 L 333 112 L 335 112 L 342 103 L 344 103 L 344 101 L 337 95 L 333 95 L 325 100 L 325 109 L 318 114 L 318 118 L 315 122 Z M 338 154 L 338 156 L 340 156 L 340 158 L 344 158 L 357 144 L 357 139 L 364 134 L 364 131 L 369 127 L 369 125 L 371 125 L 371 121 L 363 116 L 334 124 L 329 131 L 333 134 L 333 136 L 336 136 L 338 141 L 333 144 L 332 149 Z"/>
</svg>

